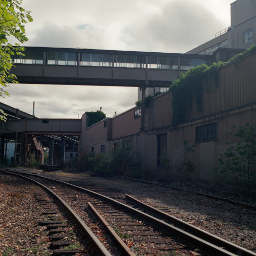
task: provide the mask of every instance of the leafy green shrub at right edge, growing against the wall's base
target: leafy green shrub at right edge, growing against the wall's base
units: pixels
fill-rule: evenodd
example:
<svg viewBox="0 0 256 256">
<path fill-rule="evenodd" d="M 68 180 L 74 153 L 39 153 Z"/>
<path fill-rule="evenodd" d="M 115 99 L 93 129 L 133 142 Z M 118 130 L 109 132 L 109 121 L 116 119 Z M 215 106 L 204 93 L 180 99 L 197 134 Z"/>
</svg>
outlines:
<svg viewBox="0 0 256 256">
<path fill-rule="evenodd" d="M 251 179 L 255 175 L 256 131 L 246 123 L 234 135 L 241 141 L 237 144 L 227 143 L 229 147 L 220 154 L 219 165 L 214 170 L 236 182 L 239 190 L 249 193 Z"/>
</svg>

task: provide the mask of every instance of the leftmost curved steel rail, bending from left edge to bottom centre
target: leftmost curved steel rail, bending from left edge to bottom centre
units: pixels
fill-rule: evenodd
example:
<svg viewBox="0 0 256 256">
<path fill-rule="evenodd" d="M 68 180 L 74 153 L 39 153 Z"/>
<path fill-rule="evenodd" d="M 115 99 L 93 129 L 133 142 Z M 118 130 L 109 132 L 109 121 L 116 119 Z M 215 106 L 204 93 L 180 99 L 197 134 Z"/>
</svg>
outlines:
<svg viewBox="0 0 256 256">
<path fill-rule="evenodd" d="M 30 179 L 28 177 L 25 177 L 23 175 L 20 174 L 16 174 L 16 173 L 9 173 L 6 172 L 4 170 L 0 170 L 0 172 L 2 173 L 6 173 L 6 174 L 11 174 L 11 175 L 15 175 L 18 177 L 22 177 L 25 178 L 35 184 L 37 184 L 38 186 L 41 186 L 42 188 L 44 188 L 52 197 L 54 197 L 59 204 L 61 205 L 61 207 L 63 207 L 67 213 L 69 214 L 70 218 L 79 226 L 79 228 L 84 232 L 84 236 L 86 236 L 95 246 L 96 250 L 100 253 L 100 255 L 105 255 L 105 256 L 111 256 L 111 253 L 104 247 L 104 245 L 97 239 L 97 237 L 95 236 L 95 234 L 92 232 L 92 230 L 86 225 L 86 223 L 83 222 L 83 220 L 76 214 L 76 212 L 63 200 L 61 199 L 56 193 L 54 193 L 54 191 L 52 191 L 50 188 L 46 187 L 45 185 Z"/>
</svg>

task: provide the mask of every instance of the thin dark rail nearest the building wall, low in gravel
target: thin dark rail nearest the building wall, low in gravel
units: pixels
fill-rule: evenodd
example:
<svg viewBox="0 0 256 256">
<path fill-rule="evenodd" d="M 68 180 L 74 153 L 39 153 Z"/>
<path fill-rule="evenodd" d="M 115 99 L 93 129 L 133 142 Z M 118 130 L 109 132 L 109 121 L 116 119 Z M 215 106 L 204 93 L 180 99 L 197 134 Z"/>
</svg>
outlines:
<svg viewBox="0 0 256 256">
<path fill-rule="evenodd" d="M 227 202 L 227 203 L 230 203 L 230 204 L 233 204 L 233 205 L 238 205 L 238 206 L 246 207 L 248 209 L 256 210 L 256 205 L 246 204 L 246 203 L 242 203 L 242 202 L 239 202 L 239 201 L 236 201 L 236 200 L 231 200 L 231 199 L 224 198 L 224 197 L 218 197 L 218 196 L 214 196 L 214 195 L 204 194 L 204 193 L 189 190 L 189 189 L 168 186 L 168 185 L 155 183 L 155 182 L 150 182 L 150 181 L 137 180 L 137 179 L 131 179 L 131 178 L 125 178 L 125 177 L 119 177 L 119 176 L 114 176 L 114 177 L 119 178 L 119 179 L 142 182 L 142 183 L 145 183 L 145 184 L 153 184 L 153 185 L 157 185 L 157 186 L 168 187 L 168 188 L 171 188 L 171 189 L 174 189 L 174 190 L 186 191 L 186 192 L 189 192 L 189 193 L 194 193 L 194 194 L 199 195 L 199 196 L 204 196 L 204 197 L 215 199 L 215 200 L 218 200 L 218 201 L 223 201 L 223 202 Z"/>
</svg>

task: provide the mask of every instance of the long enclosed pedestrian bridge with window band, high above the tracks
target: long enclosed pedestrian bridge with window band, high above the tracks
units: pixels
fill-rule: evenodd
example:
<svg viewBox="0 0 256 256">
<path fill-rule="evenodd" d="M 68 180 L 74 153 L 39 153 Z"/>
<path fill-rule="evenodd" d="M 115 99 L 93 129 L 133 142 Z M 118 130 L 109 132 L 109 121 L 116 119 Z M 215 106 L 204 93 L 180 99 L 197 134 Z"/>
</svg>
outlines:
<svg viewBox="0 0 256 256">
<path fill-rule="evenodd" d="M 159 52 L 26 47 L 13 56 L 19 83 L 169 87 L 181 72 L 211 56 Z"/>
</svg>

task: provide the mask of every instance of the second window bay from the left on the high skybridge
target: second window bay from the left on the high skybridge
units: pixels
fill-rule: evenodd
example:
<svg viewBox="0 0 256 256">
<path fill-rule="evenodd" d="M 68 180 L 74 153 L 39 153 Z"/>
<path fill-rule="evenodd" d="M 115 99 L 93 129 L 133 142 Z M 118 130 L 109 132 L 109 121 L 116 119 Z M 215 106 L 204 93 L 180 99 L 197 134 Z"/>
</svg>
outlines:
<svg viewBox="0 0 256 256">
<path fill-rule="evenodd" d="M 76 53 L 71 52 L 48 52 L 48 65 L 69 65 L 76 66 Z"/>
</svg>

